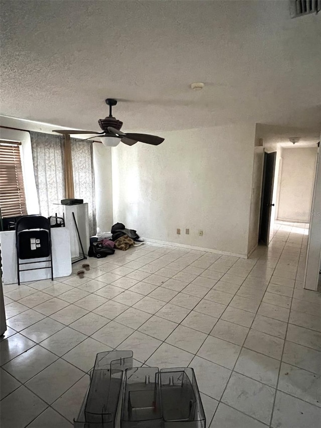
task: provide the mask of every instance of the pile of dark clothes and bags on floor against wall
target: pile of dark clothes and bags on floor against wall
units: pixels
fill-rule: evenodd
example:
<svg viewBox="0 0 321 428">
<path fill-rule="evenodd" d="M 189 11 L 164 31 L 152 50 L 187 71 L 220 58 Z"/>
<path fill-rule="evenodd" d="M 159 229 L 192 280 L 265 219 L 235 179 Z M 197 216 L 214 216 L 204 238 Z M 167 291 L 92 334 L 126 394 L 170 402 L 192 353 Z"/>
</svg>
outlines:
<svg viewBox="0 0 321 428">
<path fill-rule="evenodd" d="M 118 250 L 126 251 L 132 245 L 142 244 L 142 239 L 136 230 L 127 229 L 124 224 L 116 223 L 110 232 L 102 233 L 97 229 L 97 235 L 90 238 L 89 257 L 106 257 Z"/>
</svg>

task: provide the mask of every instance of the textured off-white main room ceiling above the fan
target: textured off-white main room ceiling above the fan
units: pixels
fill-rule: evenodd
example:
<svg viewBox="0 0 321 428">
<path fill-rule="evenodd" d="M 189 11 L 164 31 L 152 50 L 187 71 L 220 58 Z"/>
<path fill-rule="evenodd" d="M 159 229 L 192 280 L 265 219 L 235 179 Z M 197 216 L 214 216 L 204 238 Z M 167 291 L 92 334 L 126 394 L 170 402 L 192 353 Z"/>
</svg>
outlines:
<svg viewBox="0 0 321 428">
<path fill-rule="evenodd" d="M 321 125 L 321 14 L 287 1 L 1 1 L 1 113 L 124 130 Z M 193 92 L 189 84 L 206 87 Z"/>
</svg>

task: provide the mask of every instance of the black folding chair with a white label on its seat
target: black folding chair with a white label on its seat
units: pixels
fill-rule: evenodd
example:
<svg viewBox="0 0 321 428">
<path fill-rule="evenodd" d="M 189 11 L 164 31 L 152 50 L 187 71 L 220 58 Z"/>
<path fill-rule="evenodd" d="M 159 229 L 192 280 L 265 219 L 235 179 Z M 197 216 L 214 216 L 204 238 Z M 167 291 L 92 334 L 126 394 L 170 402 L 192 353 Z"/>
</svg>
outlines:
<svg viewBox="0 0 321 428">
<path fill-rule="evenodd" d="M 51 280 L 54 280 L 50 220 L 40 215 L 21 217 L 16 223 L 16 248 L 18 285 L 20 286 L 20 272 L 36 269 L 51 269 Z M 46 260 L 21 262 L 20 260 L 45 258 Z M 21 265 L 43 263 L 48 261 L 49 266 L 21 269 Z"/>
</svg>

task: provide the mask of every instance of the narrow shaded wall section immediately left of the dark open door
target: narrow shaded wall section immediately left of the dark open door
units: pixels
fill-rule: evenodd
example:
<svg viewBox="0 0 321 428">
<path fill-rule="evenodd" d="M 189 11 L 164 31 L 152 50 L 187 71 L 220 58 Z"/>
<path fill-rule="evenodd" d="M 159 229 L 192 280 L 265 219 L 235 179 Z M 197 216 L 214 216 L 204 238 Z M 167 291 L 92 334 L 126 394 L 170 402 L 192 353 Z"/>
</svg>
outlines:
<svg viewBox="0 0 321 428">
<path fill-rule="evenodd" d="M 257 247 L 259 240 L 263 163 L 264 148 L 255 147 L 252 174 L 249 239 L 247 249 L 248 254 Z"/>
</svg>

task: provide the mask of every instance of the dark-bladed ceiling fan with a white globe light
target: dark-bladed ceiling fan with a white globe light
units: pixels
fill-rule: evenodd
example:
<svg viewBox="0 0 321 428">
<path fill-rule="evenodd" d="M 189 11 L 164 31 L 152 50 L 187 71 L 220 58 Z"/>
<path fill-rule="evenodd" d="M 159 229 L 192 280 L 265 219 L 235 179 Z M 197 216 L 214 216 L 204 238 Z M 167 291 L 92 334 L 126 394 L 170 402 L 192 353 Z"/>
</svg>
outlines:
<svg viewBox="0 0 321 428">
<path fill-rule="evenodd" d="M 76 129 L 54 129 L 53 132 L 67 135 L 95 134 L 95 136 L 90 136 L 86 139 L 89 140 L 91 138 L 99 137 L 102 144 L 108 147 L 116 147 L 120 141 L 127 146 L 133 146 L 137 141 L 145 142 L 146 144 L 151 144 L 152 146 L 158 146 L 158 144 L 161 144 L 161 142 L 164 141 L 165 138 L 156 135 L 122 132 L 120 128 L 122 127 L 123 122 L 113 117 L 111 111 L 112 107 L 117 104 L 117 100 L 113 98 L 107 98 L 105 101 L 106 104 L 109 105 L 109 116 L 98 120 L 99 126 L 103 130 L 102 132 L 81 131 Z"/>
</svg>

